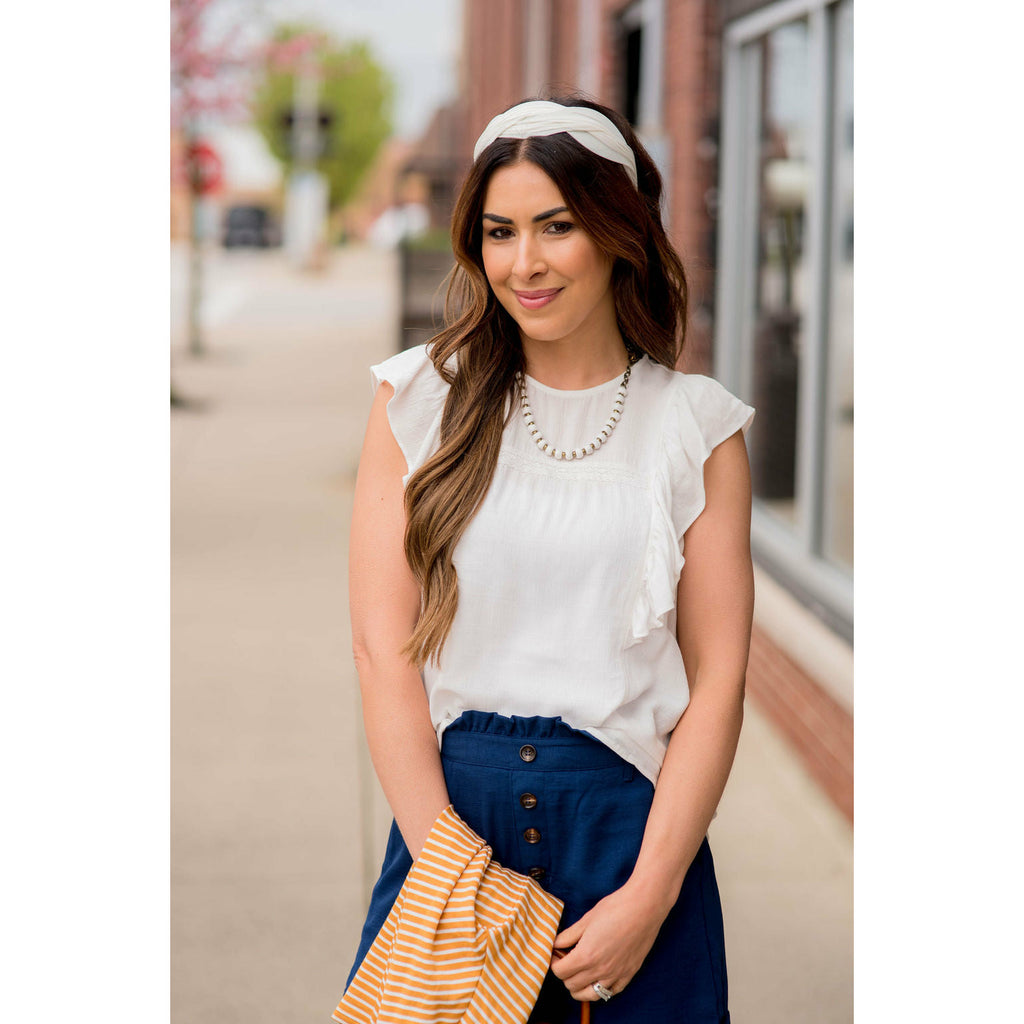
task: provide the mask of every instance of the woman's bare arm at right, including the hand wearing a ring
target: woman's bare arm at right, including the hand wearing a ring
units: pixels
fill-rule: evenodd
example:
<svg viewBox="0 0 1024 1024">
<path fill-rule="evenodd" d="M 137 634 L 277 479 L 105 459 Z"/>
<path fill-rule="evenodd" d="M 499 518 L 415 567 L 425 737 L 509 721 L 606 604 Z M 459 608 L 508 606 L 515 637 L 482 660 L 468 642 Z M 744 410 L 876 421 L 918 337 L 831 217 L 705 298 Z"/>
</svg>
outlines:
<svg viewBox="0 0 1024 1024">
<path fill-rule="evenodd" d="M 722 797 L 743 718 L 754 611 L 751 479 L 742 434 L 705 463 L 706 504 L 686 531 L 677 636 L 690 702 L 676 726 L 629 882 L 562 932 L 575 948 L 552 971 L 578 999 L 601 982 L 622 991 L 640 969 L 679 896 Z"/>
</svg>

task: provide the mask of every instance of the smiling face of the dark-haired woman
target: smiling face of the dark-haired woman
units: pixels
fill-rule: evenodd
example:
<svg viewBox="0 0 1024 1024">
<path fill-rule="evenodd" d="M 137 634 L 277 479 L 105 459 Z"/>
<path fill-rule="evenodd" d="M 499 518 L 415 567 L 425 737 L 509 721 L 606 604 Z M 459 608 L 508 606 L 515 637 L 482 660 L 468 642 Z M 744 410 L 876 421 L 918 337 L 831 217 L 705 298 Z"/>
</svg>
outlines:
<svg viewBox="0 0 1024 1024">
<path fill-rule="evenodd" d="M 611 258 L 536 164 L 500 167 L 483 200 L 483 269 L 498 301 L 538 342 L 615 332 Z"/>
</svg>

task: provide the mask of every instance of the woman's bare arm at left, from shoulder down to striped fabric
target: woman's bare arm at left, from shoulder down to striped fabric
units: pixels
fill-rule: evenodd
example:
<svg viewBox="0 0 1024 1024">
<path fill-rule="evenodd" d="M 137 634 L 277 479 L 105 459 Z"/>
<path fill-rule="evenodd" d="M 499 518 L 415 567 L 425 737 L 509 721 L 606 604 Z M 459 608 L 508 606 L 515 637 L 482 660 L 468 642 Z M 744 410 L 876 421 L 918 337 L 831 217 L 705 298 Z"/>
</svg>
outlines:
<svg viewBox="0 0 1024 1024">
<path fill-rule="evenodd" d="M 406 561 L 406 458 L 386 412 L 393 393 L 387 382 L 377 389 L 362 442 L 349 542 L 349 607 L 370 756 L 415 858 L 449 797 L 423 680 L 399 653 L 416 628 L 420 589 Z"/>
</svg>

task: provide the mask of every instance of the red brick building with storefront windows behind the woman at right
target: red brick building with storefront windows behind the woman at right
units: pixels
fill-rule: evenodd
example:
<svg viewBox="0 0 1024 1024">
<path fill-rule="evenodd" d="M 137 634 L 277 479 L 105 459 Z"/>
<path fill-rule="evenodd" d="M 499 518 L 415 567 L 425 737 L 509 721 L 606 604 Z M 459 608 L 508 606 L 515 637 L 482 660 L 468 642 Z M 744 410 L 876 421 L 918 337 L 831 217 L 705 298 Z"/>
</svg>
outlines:
<svg viewBox="0 0 1024 1024">
<path fill-rule="evenodd" d="M 496 113 L 580 91 L 662 170 L 682 369 L 758 407 L 748 687 L 852 820 L 853 0 L 464 0 L 457 169 Z M 756 434 L 756 436 L 755 436 Z"/>
</svg>

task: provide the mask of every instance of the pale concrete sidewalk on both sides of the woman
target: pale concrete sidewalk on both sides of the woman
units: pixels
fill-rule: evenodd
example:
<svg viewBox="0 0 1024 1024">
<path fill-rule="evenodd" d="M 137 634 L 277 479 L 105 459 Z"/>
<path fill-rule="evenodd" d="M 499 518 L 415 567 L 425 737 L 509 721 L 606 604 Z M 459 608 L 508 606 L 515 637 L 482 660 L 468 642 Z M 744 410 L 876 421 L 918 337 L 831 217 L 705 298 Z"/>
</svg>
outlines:
<svg viewBox="0 0 1024 1024">
<path fill-rule="evenodd" d="M 389 814 L 346 544 L 395 268 L 369 249 L 314 275 L 215 252 L 206 358 L 172 318 L 174 385 L 203 403 L 171 430 L 175 1024 L 326 1021 L 354 952 Z M 711 838 L 736 1024 L 851 1021 L 850 828 L 750 703 Z"/>
</svg>

